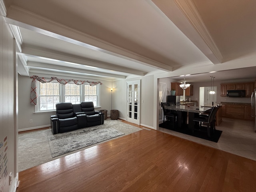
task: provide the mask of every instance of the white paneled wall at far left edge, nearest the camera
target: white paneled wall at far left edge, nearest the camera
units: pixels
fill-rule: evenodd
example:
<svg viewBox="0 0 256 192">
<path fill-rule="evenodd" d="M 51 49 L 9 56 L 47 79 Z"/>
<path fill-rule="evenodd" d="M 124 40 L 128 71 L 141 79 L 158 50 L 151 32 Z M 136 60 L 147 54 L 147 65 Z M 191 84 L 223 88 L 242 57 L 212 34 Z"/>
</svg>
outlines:
<svg viewBox="0 0 256 192">
<path fill-rule="evenodd" d="M 14 53 L 14 39 L 0 15 L 0 191 L 4 192 L 14 191 L 18 180 Z M 12 183 L 9 186 L 10 173 Z"/>
</svg>

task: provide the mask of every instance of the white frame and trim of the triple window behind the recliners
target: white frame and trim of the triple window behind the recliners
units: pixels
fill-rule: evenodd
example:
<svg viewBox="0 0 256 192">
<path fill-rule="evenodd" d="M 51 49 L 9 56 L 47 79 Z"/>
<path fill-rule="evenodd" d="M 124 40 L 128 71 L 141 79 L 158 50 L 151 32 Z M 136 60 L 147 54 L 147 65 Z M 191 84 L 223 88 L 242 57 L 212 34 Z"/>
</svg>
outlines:
<svg viewBox="0 0 256 192">
<path fill-rule="evenodd" d="M 50 82 L 50 83 L 56 83 L 56 82 Z M 59 93 L 60 93 L 60 102 L 65 101 L 65 86 L 62 84 L 59 84 Z M 97 87 L 97 105 L 94 104 L 94 108 L 100 107 L 100 84 L 95 85 Z M 37 105 L 35 106 L 35 112 L 52 112 L 56 110 L 40 110 L 40 82 L 37 81 L 37 94 L 38 94 L 38 102 Z M 80 85 L 80 101 L 84 101 L 85 97 L 85 91 L 84 91 L 84 84 Z"/>
</svg>

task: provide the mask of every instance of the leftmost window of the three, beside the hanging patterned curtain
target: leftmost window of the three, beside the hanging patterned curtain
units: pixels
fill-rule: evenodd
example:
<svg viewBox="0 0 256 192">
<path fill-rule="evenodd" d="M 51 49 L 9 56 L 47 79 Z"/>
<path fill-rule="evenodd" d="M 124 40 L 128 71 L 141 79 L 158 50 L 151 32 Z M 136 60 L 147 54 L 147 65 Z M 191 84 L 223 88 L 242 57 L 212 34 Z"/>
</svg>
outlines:
<svg viewBox="0 0 256 192">
<path fill-rule="evenodd" d="M 56 103 L 60 102 L 59 83 L 40 83 L 39 111 L 55 110 Z"/>
</svg>

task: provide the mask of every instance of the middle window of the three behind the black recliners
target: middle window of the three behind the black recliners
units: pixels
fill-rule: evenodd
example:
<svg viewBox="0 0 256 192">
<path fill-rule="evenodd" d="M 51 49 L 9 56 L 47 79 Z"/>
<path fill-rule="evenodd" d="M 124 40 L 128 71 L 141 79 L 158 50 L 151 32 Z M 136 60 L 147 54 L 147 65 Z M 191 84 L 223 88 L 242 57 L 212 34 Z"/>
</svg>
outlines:
<svg viewBox="0 0 256 192">
<path fill-rule="evenodd" d="M 65 85 L 65 102 L 79 104 L 80 98 L 80 85 L 70 83 Z"/>
</svg>

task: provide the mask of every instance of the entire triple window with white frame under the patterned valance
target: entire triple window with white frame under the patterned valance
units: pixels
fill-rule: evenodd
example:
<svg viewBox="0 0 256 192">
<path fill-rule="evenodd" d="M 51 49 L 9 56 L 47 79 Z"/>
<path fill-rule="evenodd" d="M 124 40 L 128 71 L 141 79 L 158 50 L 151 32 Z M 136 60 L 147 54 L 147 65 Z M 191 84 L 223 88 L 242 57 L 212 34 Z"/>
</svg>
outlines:
<svg viewBox="0 0 256 192">
<path fill-rule="evenodd" d="M 58 82 L 41 83 L 38 82 L 38 104 L 36 112 L 56 110 L 56 103 L 71 102 L 79 104 L 81 101 L 92 101 L 94 107 L 99 104 L 99 85 L 90 86 L 88 84 L 76 85 L 69 83 L 64 85 Z"/>
</svg>

